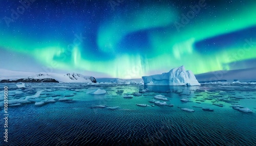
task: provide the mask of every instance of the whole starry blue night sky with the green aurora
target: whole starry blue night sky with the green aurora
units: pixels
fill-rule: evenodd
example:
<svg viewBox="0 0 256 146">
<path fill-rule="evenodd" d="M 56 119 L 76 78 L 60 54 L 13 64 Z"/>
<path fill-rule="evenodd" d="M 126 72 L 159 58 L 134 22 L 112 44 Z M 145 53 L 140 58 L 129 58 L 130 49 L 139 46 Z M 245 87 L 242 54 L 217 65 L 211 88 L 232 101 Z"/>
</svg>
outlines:
<svg viewBox="0 0 256 146">
<path fill-rule="evenodd" d="M 256 67 L 256 1 L 0 0 L 0 68 L 140 78 Z"/>
</svg>

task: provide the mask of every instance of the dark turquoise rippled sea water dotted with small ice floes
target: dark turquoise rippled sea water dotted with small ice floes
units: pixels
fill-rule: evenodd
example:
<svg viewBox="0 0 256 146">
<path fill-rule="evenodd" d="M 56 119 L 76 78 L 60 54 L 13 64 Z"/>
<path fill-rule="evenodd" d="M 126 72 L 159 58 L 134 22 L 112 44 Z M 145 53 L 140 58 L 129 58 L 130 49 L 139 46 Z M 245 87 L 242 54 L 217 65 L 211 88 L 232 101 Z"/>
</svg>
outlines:
<svg viewBox="0 0 256 146">
<path fill-rule="evenodd" d="M 9 100 L 33 95 L 38 90 L 42 90 L 40 100 L 65 95 L 73 99 L 39 107 L 34 103 L 9 107 L 8 142 L 1 136 L 2 145 L 256 145 L 255 85 L 144 87 L 31 83 L 26 84 L 29 87 L 25 89 L 18 89 L 15 84 L 0 85 L 8 86 Z M 94 88 L 107 93 L 86 93 Z M 145 88 L 148 91 L 141 96 L 123 98 L 125 93 Z M 159 94 L 165 95 L 169 100 L 166 103 L 174 107 L 152 107 L 148 101 Z M 183 98 L 190 102 L 181 102 Z M 223 104 L 223 107 L 212 103 Z M 231 104 L 240 104 L 253 112 L 234 110 Z M 97 105 L 118 108 L 94 108 Z M 203 111 L 200 107 L 214 111 Z M 3 123 L 2 120 L 1 125 Z M 4 131 L 4 126 L 1 127 Z"/>
</svg>

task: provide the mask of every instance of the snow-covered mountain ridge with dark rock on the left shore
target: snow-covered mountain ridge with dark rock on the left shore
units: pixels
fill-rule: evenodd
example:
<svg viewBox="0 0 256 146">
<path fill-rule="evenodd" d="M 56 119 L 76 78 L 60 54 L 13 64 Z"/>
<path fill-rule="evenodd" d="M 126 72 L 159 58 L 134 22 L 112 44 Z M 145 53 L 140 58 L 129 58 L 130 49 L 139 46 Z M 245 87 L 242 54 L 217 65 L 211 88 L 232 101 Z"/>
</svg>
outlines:
<svg viewBox="0 0 256 146">
<path fill-rule="evenodd" d="M 0 83 L 17 83 L 17 82 L 32 82 L 32 83 L 96 83 L 96 79 L 90 76 L 84 76 L 77 73 L 55 74 L 55 73 L 37 73 L 26 71 L 13 71 L 0 69 Z"/>
</svg>

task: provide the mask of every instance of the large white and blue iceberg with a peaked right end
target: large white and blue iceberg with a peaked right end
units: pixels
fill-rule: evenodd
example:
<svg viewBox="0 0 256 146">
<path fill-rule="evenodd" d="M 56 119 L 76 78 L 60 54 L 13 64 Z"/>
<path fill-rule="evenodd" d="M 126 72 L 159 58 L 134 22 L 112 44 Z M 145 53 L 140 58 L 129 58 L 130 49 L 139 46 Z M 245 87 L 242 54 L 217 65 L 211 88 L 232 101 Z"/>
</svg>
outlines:
<svg viewBox="0 0 256 146">
<path fill-rule="evenodd" d="M 161 75 L 143 76 L 144 85 L 200 86 L 195 75 L 184 66 L 171 69 Z"/>
</svg>

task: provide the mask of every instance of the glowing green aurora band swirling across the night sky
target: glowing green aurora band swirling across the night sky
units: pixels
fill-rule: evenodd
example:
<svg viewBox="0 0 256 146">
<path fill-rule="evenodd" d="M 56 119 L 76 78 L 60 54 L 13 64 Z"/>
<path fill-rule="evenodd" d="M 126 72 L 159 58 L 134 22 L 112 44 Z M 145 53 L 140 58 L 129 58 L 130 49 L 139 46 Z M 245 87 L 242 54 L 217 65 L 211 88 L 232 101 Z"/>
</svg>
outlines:
<svg viewBox="0 0 256 146">
<path fill-rule="evenodd" d="M 144 6 L 103 20 L 98 27 L 96 43 L 102 54 L 116 54 L 108 60 L 100 57 L 92 59 L 92 53 L 87 49 L 92 46 L 87 44 L 87 40 L 82 42 L 83 45 L 76 45 L 69 50 L 69 43 L 63 40 L 54 40 L 51 43 L 39 40 L 38 43 L 34 38 L 24 39 L 23 35 L 14 37 L 12 34 L 5 34 L 0 40 L 0 47 L 33 56 L 48 68 L 103 72 L 116 78 L 140 78 L 180 65 L 192 70 L 194 74 L 201 74 L 230 69 L 224 64 L 255 59 L 256 46 L 245 47 L 246 41 L 208 53 L 195 49 L 196 42 L 256 26 L 256 5 L 248 5 L 230 13 L 216 13 L 215 19 L 208 16 L 208 7 L 210 6 L 206 5 L 206 9 L 201 9 L 195 18 L 180 28 L 180 32 L 174 23 L 180 22 L 182 12 L 164 5 Z M 146 50 L 146 53 L 120 51 L 123 49 L 119 48 L 120 41 L 125 36 L 140 31 L 147 32 L 150 47 L 134 49 Z"/>
</svg>

